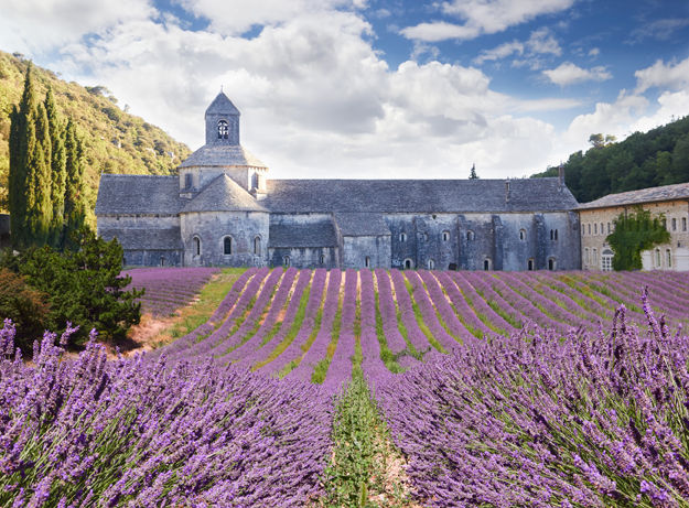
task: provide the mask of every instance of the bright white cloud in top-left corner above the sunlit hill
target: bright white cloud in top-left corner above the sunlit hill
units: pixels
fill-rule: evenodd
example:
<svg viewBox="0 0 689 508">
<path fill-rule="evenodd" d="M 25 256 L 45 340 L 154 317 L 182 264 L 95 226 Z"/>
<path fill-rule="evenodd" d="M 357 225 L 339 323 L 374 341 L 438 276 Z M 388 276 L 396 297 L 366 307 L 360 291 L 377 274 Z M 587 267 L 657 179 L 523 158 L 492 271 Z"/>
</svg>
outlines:
<svg viewBox="0 0 689 508">
<path fill-rule="evenodd" d="M 157 14 L 150 0 L 0 0 L 0 47 L 41 54 Z"/>
</svg>

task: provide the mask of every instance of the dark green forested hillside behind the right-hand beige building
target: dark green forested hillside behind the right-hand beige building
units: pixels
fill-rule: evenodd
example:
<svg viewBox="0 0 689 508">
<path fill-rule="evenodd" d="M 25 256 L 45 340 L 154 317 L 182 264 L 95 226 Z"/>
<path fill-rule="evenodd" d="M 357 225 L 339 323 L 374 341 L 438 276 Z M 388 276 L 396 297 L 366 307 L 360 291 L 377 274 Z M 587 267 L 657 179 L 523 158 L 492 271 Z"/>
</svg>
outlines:
<svg viewBox="0 0 689 508">
<path fill-rule="evenodd" d="M 689 182 L 689 117 L 621 142 L 591 137 L 592 148 L 564 164 L 564 181 L 580 203 L 606 194 Z M 557 176 L 549 167 L 531 177 Z"/>
</svg>

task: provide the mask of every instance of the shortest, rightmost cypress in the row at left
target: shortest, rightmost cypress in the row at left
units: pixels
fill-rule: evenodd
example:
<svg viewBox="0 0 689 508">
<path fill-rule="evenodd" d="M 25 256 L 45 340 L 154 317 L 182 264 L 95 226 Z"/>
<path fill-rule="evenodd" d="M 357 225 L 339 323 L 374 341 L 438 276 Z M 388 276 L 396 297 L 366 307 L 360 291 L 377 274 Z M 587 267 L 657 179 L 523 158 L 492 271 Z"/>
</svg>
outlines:
<svg viewBox="0 0 689 508">
<path fill-rule="evenodd" d="M 86 203 L 84 196 L 84 166 L 82 164 L 82 141 L 76 127 L 69 119 L 65 132 L 66 185 L 64 204 L 64 247 L 78 248 L 73 237 L 86 223 Z"/>
</svg>

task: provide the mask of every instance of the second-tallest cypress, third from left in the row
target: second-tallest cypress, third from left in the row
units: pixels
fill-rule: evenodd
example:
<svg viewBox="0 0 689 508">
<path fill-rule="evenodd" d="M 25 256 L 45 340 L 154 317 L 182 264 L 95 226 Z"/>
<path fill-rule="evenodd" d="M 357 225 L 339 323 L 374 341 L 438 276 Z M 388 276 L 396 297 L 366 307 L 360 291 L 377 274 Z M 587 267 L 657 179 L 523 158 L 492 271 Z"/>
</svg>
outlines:
<svg viewBox="0 0 689 508">
<path fill-rule="evenodd" d="M 65 128 L 57 114 L 53 90 L 47 89 L 45 96 L 45 114 L 51 138 L 51 225 L 49 242 L 53 247 L 62 247 L 62 233 L 65 210 L 65 185 L 67 177 L 65 154 Z"/>
</svg>

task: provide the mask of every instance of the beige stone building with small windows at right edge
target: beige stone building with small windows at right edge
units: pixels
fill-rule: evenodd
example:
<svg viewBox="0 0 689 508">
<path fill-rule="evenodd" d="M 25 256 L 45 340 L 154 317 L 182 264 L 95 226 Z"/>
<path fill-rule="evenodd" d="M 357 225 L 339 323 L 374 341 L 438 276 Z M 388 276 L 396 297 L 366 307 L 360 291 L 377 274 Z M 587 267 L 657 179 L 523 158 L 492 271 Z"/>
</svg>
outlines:
<svg viewBox="0 0 689 508">
<path fill-rule="evenodd" d="M 605 240 L 620 214 L 642 207 L 665 217 L 668 244 L 642 252 L 644 270 L 689 270 L 689 183 L 609 194 L 579 205 L 584 270 L 612 270 L 613 250 Z"/>
</svg>

